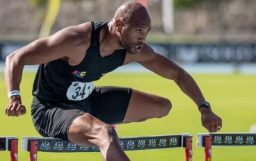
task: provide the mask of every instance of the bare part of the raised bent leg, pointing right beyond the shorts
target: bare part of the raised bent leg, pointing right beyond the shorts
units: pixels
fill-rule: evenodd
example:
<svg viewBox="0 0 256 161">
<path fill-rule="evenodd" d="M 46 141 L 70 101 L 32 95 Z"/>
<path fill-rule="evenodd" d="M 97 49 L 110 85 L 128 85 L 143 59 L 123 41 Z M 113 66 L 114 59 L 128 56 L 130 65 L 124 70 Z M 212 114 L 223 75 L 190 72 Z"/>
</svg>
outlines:
<svg viewBox="0 0 256 161">
<path fill-rule="evenodd" d="M 123 122 L 141 122 L 165 117 L 171 108 L 172 104 L 168 99 L 134 90 Z"/>
</svg>

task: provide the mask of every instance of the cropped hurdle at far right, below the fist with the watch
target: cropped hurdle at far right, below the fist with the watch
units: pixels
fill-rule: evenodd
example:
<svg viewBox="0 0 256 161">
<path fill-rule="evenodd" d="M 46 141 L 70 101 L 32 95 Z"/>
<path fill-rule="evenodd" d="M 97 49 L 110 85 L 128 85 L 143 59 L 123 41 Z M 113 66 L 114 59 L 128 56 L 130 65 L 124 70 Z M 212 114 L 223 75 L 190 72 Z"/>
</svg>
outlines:
<svg viewBox="0 0 256 161">
<path fill-rule="evenodd" d="M 205 147 L 205 161 L 211 161 L 211 147 L 256 146 L 256 133 L 198 133 L 197 147 Z"/>
</svg>

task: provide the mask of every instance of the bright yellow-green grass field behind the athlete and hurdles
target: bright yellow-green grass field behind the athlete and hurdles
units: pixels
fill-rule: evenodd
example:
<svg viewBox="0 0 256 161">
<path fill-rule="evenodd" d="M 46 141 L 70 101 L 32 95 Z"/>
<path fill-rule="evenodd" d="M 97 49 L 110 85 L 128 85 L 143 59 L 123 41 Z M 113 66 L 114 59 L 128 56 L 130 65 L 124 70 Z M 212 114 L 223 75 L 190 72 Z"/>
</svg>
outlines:
<svg viewBox="0 0 256 161">
<path fill-rule="evenodd" d="M 207 101 L 216 114 L 223 119 L 221 132 L 248 132 L 256 124 L 256 76 L 241 75 L 193 75 Z M 22 78 L 22 101 L 27 113 L 22 117 L 7 117 L 8 105 L 4 80 L 0 80 L 0 135 L 38 136 L 31 121 L 31 88 L 34 74 Z M 95 85 L 118 85 L 158 94 L 170 99 L 173 109 L 167 117 L 151 119 L 142 123 L 118 125 L 119 137 L 191 133 L 193 137 L 193 160 L 203 160 L 204 149 L 195 146 L 196 133 L 207 133 L 201 126 L 197 107 L 183 94 L 173 81 L 154 74 L 108 74 Z M 19 139 L 20 141 L 20 139 Z M 19 142 L 20 147 L 20 142 Z M 131 160 L 184 160 L 184 149 L 127 152 Z M 212 159 L 216 161 L 256 160 L 256 147 L 213 148 Z M 0 160 L 9 160 L 8 153 L 1 153 Z M 19 151 L 19 160 L 29 160 L 29 153 Z M 39 153 L 38 160 L 101 160 L 99 153 Z"/>
</svg>

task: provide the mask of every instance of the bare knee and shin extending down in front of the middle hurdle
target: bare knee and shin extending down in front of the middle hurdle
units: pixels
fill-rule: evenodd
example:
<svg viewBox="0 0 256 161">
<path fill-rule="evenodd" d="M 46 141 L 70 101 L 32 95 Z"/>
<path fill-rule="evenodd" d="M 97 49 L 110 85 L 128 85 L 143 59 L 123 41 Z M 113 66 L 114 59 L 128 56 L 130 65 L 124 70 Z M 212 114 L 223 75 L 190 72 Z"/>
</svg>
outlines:
<svg viewBox="0 0 256 161">
<path fill-rule="evenodd" d="M 77 117 L 68 130 L 70 142 L 80 146 L 98 146 L 104 161 L 127 161 L 115 129 L 86 113 Z"/>
</svg>

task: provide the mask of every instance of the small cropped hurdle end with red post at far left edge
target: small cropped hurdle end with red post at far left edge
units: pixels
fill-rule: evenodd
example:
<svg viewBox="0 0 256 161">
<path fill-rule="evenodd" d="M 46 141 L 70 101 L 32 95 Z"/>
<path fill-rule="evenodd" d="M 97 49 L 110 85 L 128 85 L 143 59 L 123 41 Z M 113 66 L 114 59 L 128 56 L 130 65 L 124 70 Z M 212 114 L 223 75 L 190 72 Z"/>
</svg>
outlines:
<svg viewBox="0 0 256 161">
<path fill-rule="evenodd" d="M 18 141 L 15 136 L 0 136 L 0 151 L 10 151 L 10 161 L 18 161 Z"/>
</svg>

